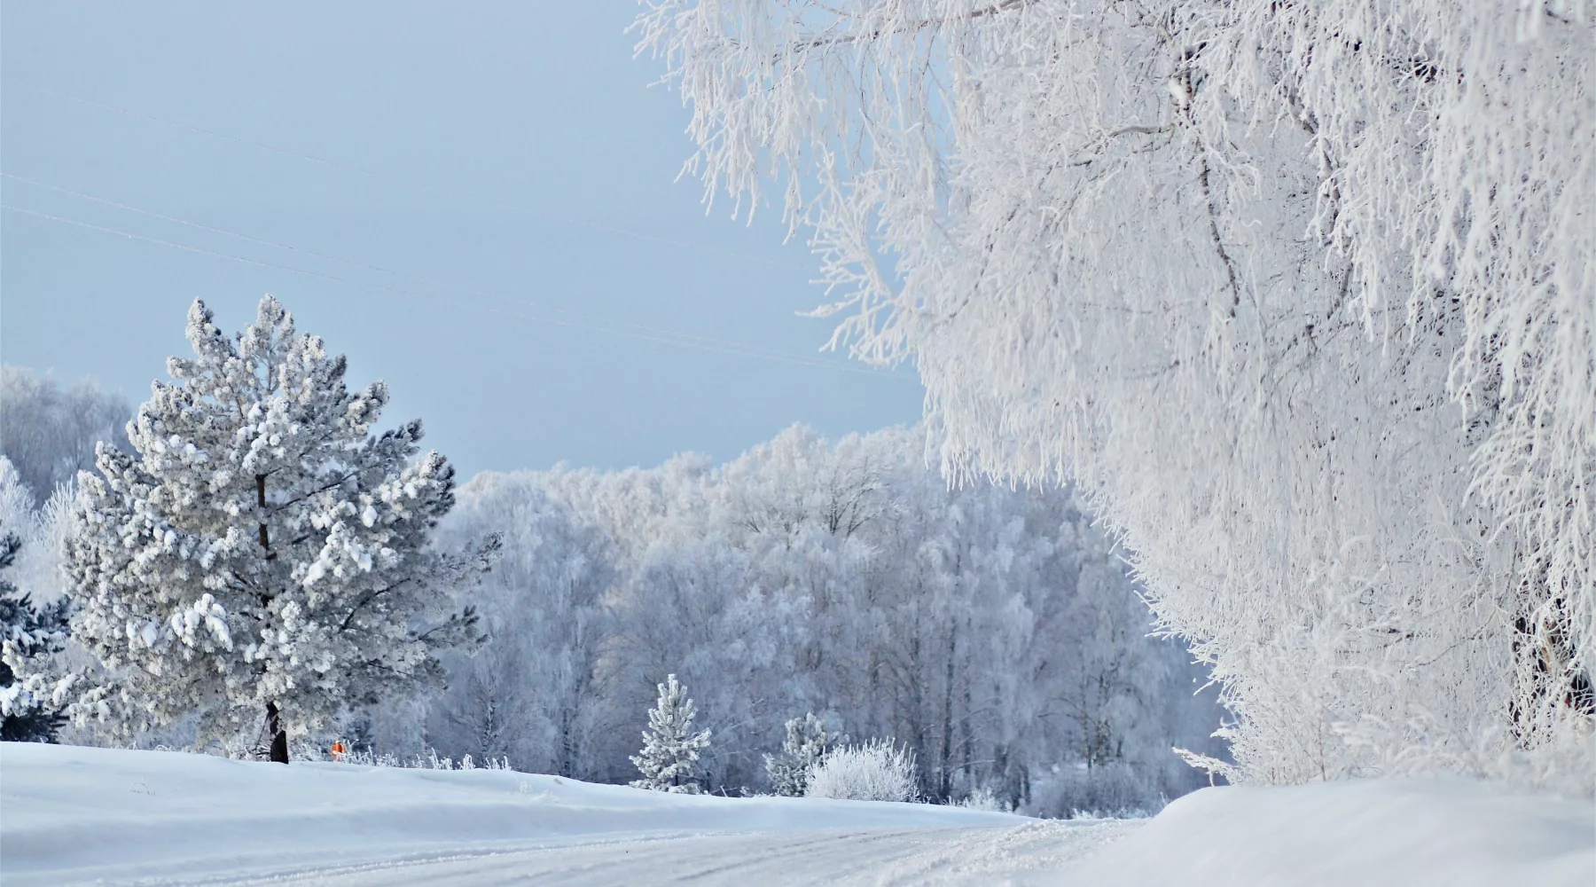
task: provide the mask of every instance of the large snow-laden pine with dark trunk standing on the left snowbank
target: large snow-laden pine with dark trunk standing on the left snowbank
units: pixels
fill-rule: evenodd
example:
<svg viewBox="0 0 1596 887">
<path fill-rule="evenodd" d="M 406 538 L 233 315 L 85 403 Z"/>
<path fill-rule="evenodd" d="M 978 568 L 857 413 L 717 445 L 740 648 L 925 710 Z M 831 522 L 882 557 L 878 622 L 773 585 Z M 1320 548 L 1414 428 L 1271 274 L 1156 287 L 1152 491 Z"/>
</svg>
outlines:
<svg viewBox="0 0 1596 887">
<path fill-rule="evenodd" d="M 128 426 L 78 475 L 65 570 L 73 635 L 99 657 L 69 712 L 117 734 L 196 713 L 201 739 L 262 735 L 287 763 L 350 707 L 439 686 L 440 648 L 480 641 L 452 592 L 493 560 L 428 546 L 455 471 L 421 423 L 372 436 L 381 381 L 351 392 L 343 356 L 273 297 L 223 335 L 188 311 L 174 357 Z"/>
</svg>

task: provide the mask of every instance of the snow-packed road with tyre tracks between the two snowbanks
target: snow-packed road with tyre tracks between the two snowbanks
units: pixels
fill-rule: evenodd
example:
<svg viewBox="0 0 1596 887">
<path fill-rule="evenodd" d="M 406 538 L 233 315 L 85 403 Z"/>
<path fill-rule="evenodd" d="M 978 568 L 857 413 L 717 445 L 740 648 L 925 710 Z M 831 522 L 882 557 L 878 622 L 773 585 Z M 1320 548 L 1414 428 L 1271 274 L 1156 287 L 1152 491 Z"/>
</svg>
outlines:
<svg viewBox="0 0 1596 887">
<path fill-rule="evenodd" d="M 1140 823 L 883 828 L 608 839 L 279 868 L 206 885 L 1058 884 L 1061 869 Z"/>
</svg>

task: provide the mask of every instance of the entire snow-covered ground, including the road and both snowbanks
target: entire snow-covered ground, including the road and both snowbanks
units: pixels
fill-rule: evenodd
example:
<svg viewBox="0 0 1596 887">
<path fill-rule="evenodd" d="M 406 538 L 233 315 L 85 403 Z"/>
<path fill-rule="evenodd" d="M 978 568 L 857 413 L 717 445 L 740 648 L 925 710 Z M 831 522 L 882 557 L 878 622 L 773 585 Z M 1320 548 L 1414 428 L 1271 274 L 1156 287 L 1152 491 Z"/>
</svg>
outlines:
<svg viewBox="0 0 1596 887">
<path fill-rule="evenodd" d="M 1465 780 L 1203 790 L 1154 820 L 689 798 L 503 771 L 0 747 L 32 884 L 1596 882 L 1596 809 Z"/>
</svg>

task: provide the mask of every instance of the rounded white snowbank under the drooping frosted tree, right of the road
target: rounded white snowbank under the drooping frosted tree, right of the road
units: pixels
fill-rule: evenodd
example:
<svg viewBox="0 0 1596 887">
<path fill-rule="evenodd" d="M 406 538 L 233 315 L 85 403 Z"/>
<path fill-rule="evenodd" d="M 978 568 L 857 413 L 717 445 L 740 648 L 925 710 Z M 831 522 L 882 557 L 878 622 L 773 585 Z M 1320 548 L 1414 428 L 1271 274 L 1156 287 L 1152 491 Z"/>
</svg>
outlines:
<svg viewBox="0 0 1596 887">
<path fill-rule="evenodd" d="M 1596 804 L 1462 777 L 1203 788 L 1066 882 L 1590 887 Z"/>
</svg>

